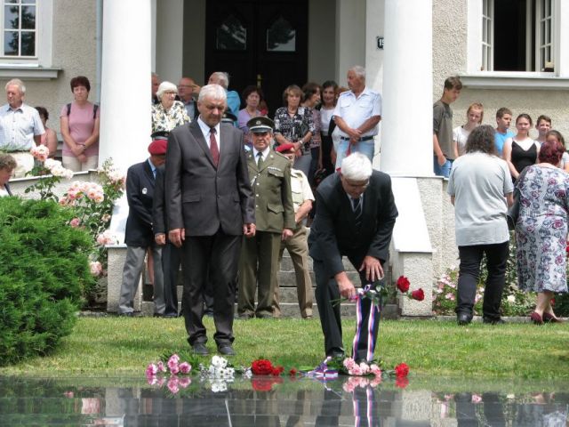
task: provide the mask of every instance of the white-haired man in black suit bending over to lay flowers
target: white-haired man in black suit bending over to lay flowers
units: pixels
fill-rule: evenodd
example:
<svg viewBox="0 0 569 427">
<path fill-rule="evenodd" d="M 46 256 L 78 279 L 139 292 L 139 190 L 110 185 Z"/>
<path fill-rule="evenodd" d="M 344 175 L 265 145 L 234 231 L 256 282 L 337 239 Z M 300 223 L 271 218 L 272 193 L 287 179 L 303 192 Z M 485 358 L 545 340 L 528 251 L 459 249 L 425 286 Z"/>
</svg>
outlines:
<svg viewBox="0 0 569 427">
<path fill-rule="evenodd" d="M 317 280 L 316 297 L 325 336 L 326 356 L 343 357 L 341 296 L 357 295 L 342 264 L 342 256 L 359 271 L 362 287 L 377 286 L 389 257 L 389 242 L 397 218 L 397 207 L 389 175 L 374 171 L 361 153 L 345 157 L 341 172 L 328 176 L 317 188 L 318 211 L 309 236 L 310 256 Z M 370 316 L 375 319 L 368 322 Z M 370 300 L 362 300 L 362 318 L 352 357 L 373 359 L 379 312 Z M 364 330 L 368 327 L 369 330 Z M 372 342 L 368 342 L 372 335 Z"/>
</svg>

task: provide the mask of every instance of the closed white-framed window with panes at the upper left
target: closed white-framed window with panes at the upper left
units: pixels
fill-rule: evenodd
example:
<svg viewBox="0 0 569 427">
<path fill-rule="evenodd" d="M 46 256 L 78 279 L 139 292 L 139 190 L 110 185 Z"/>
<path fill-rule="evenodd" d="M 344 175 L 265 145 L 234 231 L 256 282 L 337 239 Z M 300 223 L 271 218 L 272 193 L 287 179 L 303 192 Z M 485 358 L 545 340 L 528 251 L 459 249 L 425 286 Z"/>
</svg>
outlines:
<svg viewBox="0 0 569 427">
<path fill-rule="evenodd" d="M 2 56 L 37 56 L 37 1 L 3 0 Z"/>
</svg>

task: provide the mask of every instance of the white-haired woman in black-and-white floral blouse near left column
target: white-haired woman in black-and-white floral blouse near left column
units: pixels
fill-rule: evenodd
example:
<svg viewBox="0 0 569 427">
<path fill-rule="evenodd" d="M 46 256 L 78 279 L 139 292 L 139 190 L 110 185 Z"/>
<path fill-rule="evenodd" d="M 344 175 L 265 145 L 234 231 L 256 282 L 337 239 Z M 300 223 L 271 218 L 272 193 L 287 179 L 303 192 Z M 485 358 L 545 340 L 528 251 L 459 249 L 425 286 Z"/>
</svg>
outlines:
<svg viewBox="0 0 569 427">
<path fill-rule="evenodd" d="M 152 106 L 152 133 L 157 131 L 170 132 L 176 126 L 189 122 L 186 107 L 180 101 L 175 101 L 178 88 L 170 82 L 162 82 L 158 86 L 156 96 L 159 103 Z"/>
</svg>

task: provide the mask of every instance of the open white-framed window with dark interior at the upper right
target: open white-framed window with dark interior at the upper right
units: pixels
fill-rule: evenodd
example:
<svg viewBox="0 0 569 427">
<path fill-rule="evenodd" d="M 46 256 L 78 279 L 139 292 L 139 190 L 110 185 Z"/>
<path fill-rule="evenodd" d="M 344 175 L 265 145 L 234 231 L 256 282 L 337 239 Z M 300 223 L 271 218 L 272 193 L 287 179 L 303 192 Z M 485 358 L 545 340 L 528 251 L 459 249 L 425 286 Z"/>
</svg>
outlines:
<svg viewBox="0 0 569 427">
<path fill-rule="evenodd" d="M 553 0 L 482 0 L 481 70 L 554 71 Z"/>
</svg>

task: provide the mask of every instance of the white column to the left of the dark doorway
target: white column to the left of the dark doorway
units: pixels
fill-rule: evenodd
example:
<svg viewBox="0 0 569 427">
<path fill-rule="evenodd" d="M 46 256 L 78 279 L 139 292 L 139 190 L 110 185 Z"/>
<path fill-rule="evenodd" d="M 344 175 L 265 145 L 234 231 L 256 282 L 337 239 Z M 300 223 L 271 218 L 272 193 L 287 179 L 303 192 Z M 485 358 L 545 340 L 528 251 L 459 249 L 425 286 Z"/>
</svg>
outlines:
<svg viewBox="0 0 569 427">
<path fill-rule="evenodd" d="M 150 0 L 105 0 L 99 164 L 124 172 L 148 157 L 150 28 Z"/>
</svg>

